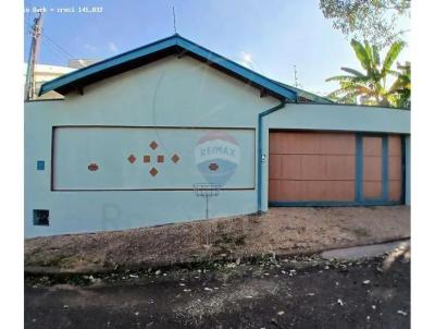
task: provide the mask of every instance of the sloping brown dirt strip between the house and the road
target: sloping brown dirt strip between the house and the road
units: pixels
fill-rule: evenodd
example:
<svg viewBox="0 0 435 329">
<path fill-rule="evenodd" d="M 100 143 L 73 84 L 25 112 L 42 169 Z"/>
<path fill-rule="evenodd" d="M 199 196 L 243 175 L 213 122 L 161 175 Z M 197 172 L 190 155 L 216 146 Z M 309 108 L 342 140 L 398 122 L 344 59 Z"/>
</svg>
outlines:
<svg viewBox="0 0 435 329">
<path fill-rule="evenodd" d="M 204 246 L 206 230 L 212 245 Z M 265 215 L 25 241 L 27 270 L 92 272 L 215 258 L 296 255 L 410 236 L 410 209 L 271 208 Z"/>
</svg>

